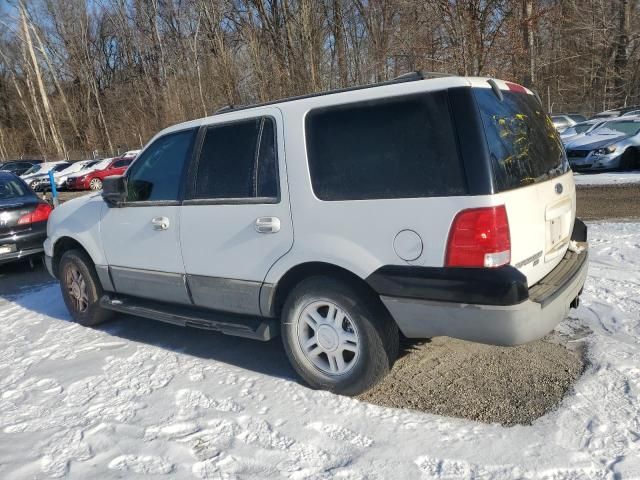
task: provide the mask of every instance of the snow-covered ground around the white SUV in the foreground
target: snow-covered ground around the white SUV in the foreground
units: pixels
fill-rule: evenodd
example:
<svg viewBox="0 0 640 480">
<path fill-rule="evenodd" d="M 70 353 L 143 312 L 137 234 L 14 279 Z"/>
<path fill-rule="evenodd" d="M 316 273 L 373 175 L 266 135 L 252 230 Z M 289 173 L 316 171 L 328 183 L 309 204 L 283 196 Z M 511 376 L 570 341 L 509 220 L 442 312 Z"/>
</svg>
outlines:
<svg viewBox="0 0 640 480">
<path fill-rule="evenodd" d="M 505 428 L 298 385 L 268 344 L 123 318 L 69 321 L 58 288 L 0 299 L 0 478 L 640 478 L 640 224 L 590 226 L 590 366 Z"/>
</svg>

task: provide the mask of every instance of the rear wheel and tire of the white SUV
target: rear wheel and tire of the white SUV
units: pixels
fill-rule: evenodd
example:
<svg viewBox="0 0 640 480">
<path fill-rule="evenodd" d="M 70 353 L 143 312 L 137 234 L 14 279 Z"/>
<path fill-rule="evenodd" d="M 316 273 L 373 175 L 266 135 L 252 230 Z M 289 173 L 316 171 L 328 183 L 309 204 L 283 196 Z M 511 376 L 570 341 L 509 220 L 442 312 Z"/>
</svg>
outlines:
<svg viewBox="0 0 640 480">
<path fill-rule="evenodd" d="M 315 389 L 357 395 L 380 382 L 398 357 L 398 327 L 377 297 L 335 278 L 298 284 L 281 328 L 291 365 Z"/>
</svg>

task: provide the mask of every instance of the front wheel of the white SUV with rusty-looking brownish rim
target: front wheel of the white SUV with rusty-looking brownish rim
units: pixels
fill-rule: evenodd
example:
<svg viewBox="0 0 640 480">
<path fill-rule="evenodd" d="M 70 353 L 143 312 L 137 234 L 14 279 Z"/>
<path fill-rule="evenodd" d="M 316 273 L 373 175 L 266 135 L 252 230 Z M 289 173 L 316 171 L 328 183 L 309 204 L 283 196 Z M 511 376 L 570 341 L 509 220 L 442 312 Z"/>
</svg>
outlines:
<svg viewBox="0 0 640 480">
<path fill-rule="evenodd" d="M 60 259 L 58 277 L 62 298 L 75 322 L 92 327 L 109 320 L 111 312 L 100 307 L 103 290 L 87 254 L 79 250 L 65 252 Z"/>
</svg>

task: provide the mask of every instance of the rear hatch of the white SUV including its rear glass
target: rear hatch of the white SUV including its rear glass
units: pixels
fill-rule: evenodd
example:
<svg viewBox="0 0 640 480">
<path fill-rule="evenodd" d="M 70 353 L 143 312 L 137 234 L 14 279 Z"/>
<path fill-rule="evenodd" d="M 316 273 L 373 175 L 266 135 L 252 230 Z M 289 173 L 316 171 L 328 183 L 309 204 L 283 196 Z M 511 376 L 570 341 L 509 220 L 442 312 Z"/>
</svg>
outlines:
<svg viewBox="0 0 640 480">
<path fill-rule="evenodd" d="M 564 256 L 576 211 L 575 185 L 560 137 L 536 96 L 497 82 L 474 88 L 498 203 L 507 209 L 511 265 L 534 285 Z"/>
</svg>

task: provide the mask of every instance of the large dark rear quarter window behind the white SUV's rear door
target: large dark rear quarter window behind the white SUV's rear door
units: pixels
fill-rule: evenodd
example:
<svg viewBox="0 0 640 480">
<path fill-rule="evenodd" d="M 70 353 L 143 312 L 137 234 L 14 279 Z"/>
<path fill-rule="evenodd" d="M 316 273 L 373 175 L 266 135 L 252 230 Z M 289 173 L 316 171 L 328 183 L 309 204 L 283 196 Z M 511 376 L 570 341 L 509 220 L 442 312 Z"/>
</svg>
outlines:
<svg viewBox="0 0 640 480">
<path fill-rule="evenodd" d="M 466 193 L 445 91 L 313 110 L 306 136 L 321 200 Z"/>
</svg>

